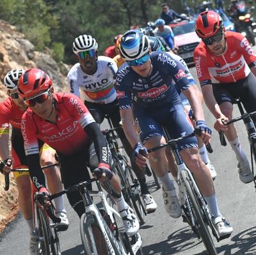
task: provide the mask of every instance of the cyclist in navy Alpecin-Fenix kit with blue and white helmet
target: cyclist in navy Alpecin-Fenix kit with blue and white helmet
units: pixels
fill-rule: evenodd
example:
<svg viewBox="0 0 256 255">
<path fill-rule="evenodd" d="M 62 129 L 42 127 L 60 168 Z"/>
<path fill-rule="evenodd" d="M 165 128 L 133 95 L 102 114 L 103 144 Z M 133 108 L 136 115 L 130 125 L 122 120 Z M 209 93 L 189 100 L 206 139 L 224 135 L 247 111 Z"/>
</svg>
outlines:
<svg viewBox="0 0 256 255">
<path fill-rule="evenodd" d="M 166 52 L 150 54 L 148 37 L 140 31 L 130 30 L 124 34 L 120 43 L 120 54 L 126 63 L 116 73 L 116 88 L 124 131 L 134 148 L 133 156 L 140 167 L 145 167 L 148 158 L 163 182 L 166 211 L 172 217 L 180 217 L 180 205 L 173 182 L 168 176 L 165 150 L 157 150 L 148 155 L 147 148 L 164 143 L 163 127 L 170 138 L 193 132 L 177 90 L 183 91 L 188 98 L 195 114 L 196 126 L 202 130 L 200 137 L 204 143 L 209 143 L 211 129 L 204 121 L 201 101 L 186 77 L 184 66 Z M 140 139 L 134 130 L 132 110 L 139 127 Z M 182 159 L 193 171 L 196 183 L 207 201 L 218 234 L 230 235 L 233 229 L 220 213 L 211 173 L 200 158 L 196 138 L 184 139 L 178 146 Z M 145 151 L 146 157 L 141 155 L 140 150 Z"/>
</svg>

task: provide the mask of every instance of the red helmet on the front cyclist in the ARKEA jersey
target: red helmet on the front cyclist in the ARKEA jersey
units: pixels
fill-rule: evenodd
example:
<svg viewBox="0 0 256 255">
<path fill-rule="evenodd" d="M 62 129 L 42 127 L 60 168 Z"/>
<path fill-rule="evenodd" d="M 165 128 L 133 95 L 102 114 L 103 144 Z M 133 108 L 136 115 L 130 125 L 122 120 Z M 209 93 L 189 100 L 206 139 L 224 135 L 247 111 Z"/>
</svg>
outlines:
<svg viewBox="0 0 256 255">
<path fill-rule="evenodd" d="M 19 97 L 32 97 L 36 93 L 47 91 L 51 87 L 52 81 L 47 73 L 38 68 L 29 69 L 20 76 L 18 82 Z"/>
</svg>

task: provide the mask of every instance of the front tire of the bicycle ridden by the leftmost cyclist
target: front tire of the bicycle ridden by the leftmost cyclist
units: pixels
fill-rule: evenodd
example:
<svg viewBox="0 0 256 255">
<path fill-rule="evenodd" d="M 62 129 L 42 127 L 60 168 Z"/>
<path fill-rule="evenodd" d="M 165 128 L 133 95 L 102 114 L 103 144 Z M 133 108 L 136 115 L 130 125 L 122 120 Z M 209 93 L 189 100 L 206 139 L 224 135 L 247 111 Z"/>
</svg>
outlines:
<svg viewBox="0 0 256 255">
<path fill-rule="evenodd" d="M 47 215 L 45 210 L 40 210 L 36 208 L 38 213 L 38 232 L 39 232 L 39 248 L 40 254 L 43 255 L 50 255 L 51 254 L 51 239 L 50 239 L 50 228 L 49 220 L 47 219 Z"/>
</svg>

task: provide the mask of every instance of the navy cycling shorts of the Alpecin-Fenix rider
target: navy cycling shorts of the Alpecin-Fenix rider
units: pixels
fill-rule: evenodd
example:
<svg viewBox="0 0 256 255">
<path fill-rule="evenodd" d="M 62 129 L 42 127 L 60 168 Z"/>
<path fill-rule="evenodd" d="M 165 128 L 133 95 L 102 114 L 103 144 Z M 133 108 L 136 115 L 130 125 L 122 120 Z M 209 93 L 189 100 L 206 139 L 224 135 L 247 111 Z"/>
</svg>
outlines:
<svg viewBox="0 0 256 255">
<path fill-rule="evenodd" d="M 170 139 L 190 134 L 194 130 L 182 104 L 173 107 L 165 105 L 165 107 L 154 107 L 154 109 L 135 108 L 134 118 L 143 144 L 147 143 L 151 137 L 165 136 L 163 127 Z M 198 147 L 195 136 L 179 141 L 177 144 L 179 150 Z"/>
</svg>

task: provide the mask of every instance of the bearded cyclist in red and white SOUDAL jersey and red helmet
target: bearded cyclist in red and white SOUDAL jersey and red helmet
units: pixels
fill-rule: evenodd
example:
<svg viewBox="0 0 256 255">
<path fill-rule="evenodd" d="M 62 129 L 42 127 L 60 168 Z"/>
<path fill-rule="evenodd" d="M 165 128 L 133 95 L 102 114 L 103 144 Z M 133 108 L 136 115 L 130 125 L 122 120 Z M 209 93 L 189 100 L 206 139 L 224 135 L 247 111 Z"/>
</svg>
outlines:
<svg viewBox="0 0 256 255">
<path fill-rule="evenodd" d="M 196 71 L 205 104 L 216 118 L 214 128 L 223 130 L 236 153 L 239 178 L 253 180 L 250 164 L 241 148 L 232 119 L 235 98 L 248 112 L 256 110 L 256 54 L 240 33 L 225 31 L 223 20 L 215 12 L 202 12 L 196 19 L 196 34 L 202 38 L 194 52 Z"/>
</svg>

